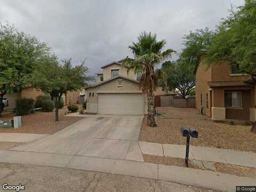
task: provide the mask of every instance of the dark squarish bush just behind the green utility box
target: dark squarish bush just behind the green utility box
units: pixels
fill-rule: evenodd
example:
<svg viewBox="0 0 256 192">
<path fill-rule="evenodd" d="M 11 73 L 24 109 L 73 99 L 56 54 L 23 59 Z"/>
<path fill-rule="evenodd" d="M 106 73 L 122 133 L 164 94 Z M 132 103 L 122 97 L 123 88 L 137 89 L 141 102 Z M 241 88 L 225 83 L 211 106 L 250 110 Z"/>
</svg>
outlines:
<svg viewBox="0 0 256 192">
<path fill-rule="evenodd" d="M 16 100 L 16 114 L 20 115 L 28 115 L 34 113 L 34 103 L 35 100 L 31 98 L 22 98 Z"/>
</svg>

